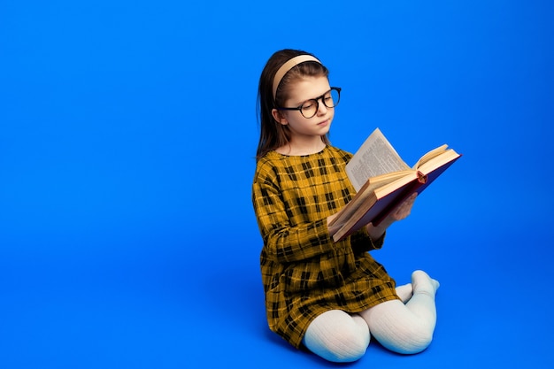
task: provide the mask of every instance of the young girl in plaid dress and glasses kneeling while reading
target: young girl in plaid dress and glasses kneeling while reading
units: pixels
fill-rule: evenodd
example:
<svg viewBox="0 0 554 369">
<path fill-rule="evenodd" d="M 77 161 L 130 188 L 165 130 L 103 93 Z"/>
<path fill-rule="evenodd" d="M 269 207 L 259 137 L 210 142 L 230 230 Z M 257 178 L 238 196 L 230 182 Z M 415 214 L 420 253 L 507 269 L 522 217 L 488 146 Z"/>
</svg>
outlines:
<svg viewBox="0 0 554 369">
<path fill-rule="evenodd" d="M 300 50 L 268 60 L 258 88 L 261 135 L 252 202 L 264 241 L 260 264 L 269 327 L 296 348 L 334 362 L 358 360 L 370 336 L 399 353 L 425 350 L 435 330 L 437 281 L 412 273 L 395 281 L 367 252 L 410 214 L 415 196 L 378 227 L 371 223 L 334 242 L 328 223 L 354 188 L 350 153 L 327 134 L 341 88 L 327 68 Z"/>
</svg>

